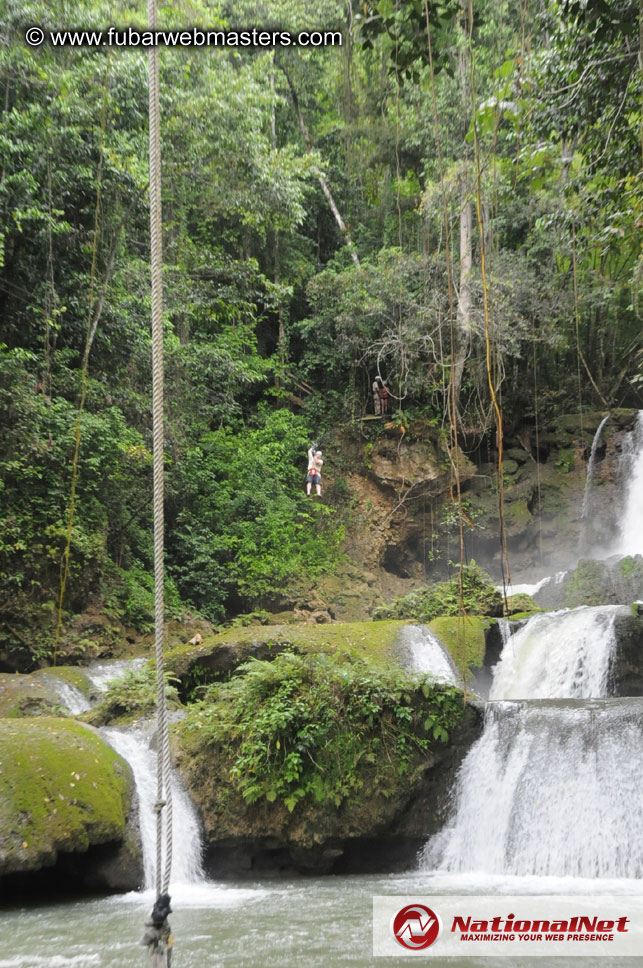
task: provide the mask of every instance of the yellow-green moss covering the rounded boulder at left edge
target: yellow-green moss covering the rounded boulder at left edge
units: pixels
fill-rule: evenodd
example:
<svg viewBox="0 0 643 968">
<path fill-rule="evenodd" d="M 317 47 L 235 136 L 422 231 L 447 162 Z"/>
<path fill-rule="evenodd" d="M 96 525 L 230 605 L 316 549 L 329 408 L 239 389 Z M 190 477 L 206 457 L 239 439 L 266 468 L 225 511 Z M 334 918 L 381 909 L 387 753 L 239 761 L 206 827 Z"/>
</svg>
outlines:
<svg viewBox="0 0 643 968">
<path fill-rule="evenodd" d="M 80 723 L 0 721 L 0 873 L 119 840 L 131 789 L 127 763 Z"/>
</svg>

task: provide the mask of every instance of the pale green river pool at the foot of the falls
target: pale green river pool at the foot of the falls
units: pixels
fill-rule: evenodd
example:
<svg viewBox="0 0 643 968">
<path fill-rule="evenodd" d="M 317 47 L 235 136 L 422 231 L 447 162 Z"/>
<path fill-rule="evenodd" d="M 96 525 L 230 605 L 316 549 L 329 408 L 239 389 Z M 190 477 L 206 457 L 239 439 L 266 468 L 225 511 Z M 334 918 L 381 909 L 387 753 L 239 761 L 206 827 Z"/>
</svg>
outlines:
<svg viewBox="0 0 643 968">
<path fill-rule="evenodd" d="M 374 958 L 374 894 L 639 894 L 638 881 L 489 877 L 427 872 L 296 878 L 172 887 L 172 968 L 366 968 L 408 966 Z M 130 968 L 145 965 L 139 945 L 153 896 L 126 894 L 0 913 L 0 968 Z M 457 968 L 638 968 L 640 958 L 428 958 Z"/>
</svg>

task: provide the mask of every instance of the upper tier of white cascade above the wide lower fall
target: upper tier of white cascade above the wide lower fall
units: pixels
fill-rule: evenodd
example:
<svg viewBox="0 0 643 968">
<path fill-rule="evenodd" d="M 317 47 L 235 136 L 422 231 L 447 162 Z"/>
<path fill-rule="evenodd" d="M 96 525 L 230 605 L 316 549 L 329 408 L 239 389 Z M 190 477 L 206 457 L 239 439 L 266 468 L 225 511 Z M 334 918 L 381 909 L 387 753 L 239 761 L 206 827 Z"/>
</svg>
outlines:
<svg viewBox="0 0 643 968">
<path fill-rule="evenodd" d="M 607 695 L 620 606 L 534 615 L 504 643 L 490 699 L 585 699 Z"/>
</svg>

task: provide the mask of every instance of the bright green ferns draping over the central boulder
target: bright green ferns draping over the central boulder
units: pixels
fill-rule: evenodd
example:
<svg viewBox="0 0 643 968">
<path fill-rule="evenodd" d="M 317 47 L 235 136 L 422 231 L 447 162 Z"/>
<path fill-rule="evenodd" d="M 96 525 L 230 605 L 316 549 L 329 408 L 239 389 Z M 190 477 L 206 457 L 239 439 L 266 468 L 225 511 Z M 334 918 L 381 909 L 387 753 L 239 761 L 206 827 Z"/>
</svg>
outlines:
<svg viewBox="0 0 643 968">
<path fill-rule="evenodd" d="M 326 655 L 252 660 L 210 686 L 182 726 L 211 748 L 249 802 L 339 807 L 367 788 L 387 796 L 462 713 L 457 690 L 423 676 Z"/>
</svg>

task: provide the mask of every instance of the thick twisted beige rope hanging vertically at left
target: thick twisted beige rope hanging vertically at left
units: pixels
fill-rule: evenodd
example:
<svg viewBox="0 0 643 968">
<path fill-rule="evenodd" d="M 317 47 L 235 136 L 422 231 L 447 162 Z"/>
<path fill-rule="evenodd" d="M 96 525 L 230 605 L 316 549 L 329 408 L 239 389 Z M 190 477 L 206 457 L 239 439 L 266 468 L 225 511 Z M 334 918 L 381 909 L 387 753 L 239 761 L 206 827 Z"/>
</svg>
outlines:
<svg viewBox="0 0 643 968">
<path fill-rule="evenodd" d="M 148 0 L 150 30 L 156 30 L 156 0 Z M 156 895 L 165 894 L 172 870 L 172 792 L 170 737 L 163 676 L 163 248 L 161 237 L 161 114 L 158 49 L 150 47 L 148 61 L 150 120 L 150 245 L 152 264 L 152 414 L 154 440 L 154 651 L 156 656 L 156 713 L 158 732 L 156 800 Z M 163 809 L 166 810 L 167 847 L 162 872 Z"/>
</svg>

